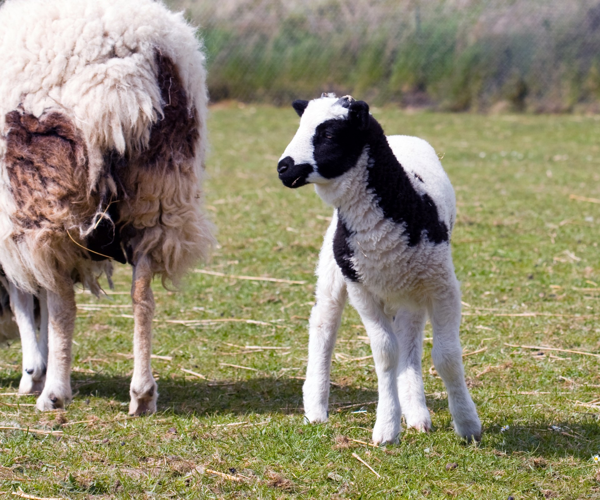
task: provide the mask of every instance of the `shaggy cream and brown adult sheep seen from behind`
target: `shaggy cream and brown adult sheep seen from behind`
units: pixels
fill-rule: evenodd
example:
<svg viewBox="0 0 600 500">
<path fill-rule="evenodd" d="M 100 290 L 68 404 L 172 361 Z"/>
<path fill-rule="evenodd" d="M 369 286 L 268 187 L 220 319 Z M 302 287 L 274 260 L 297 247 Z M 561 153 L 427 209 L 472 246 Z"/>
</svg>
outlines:
<svg viewBox="0 0 600 500">
<path fill-rule="evenodd" d="M 37 408 L 71 399 L 73 283 L 98 292 L 114 259 L 133 266 L 130 413 L 154 412 L 152 277 L 177 283 L 214 241 L 199 41 L 152 0 L 7 0 L 0 32 L 0 265 L 46 294 Z"/>
</svg>

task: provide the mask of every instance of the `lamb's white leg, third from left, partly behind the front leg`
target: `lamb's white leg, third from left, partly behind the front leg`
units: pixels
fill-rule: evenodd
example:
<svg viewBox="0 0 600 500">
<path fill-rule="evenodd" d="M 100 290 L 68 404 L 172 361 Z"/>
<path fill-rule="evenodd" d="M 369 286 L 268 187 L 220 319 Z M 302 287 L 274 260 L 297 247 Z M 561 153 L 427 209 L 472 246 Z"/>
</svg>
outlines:
<svg viewBox="0 0 600 500">
<path fill-rule="evenodd" d="M 394 319 L 394 331 L 400 342 L 398 397 L 407 427 L 429 432 L 431 416 L 425 403 L 421 370 L 425 310 L 400 309 Z"/>
</svg>

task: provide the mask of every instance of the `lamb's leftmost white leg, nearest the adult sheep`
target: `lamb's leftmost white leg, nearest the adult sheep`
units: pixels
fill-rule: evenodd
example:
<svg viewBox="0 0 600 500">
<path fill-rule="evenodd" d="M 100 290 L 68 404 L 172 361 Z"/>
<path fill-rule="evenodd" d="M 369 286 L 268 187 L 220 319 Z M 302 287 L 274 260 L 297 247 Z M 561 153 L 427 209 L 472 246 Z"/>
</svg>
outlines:
<svg viewBox="0 0 600 500">
<path fill-rule="evenodd" d="M 319 262 L 316 303 L 308 321 L 308 366 L 302 388 L 304 415 L 311 423 L 326 422 L 329 402 L 329 371 L 341 313 L 346 304 L 346 282 L 331 251 Z"/>
</svg>

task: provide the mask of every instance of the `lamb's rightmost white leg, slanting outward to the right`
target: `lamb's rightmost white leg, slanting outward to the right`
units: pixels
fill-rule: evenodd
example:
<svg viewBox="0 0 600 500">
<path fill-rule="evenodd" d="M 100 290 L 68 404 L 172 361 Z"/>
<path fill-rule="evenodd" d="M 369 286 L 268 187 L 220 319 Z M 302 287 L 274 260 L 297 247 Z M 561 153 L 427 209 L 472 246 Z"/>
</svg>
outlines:
<svg viewBox="0 0 600 500">
<path fill-rule="evenodd" d="M 481 422 L 464 381 L 463 351 L 458 339 L 460 286 L 454 276 L 451 280 L 448 287 L 434 298 L 431 307 L 431 358 L 448 391 L 448 406 L 454 420 L 454 430 L 470 441 L 481 437 Z"/>
</svg>

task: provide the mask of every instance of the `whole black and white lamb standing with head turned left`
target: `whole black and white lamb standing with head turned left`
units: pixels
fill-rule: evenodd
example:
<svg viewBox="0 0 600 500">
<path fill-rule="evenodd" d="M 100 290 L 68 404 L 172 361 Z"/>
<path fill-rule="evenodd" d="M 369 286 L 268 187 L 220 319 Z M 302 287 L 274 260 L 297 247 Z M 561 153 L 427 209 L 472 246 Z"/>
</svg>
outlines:
<svg viewBox="0 0 600 500">
<path fill-rule="evenodd" d="M 458 339 L 460 285 L 449 244 L 454 190 L 436 152 L 416 137 L 386 137 L 368 104 L 350 96 L 323 94 L 292 106 L 301 120 L 281 155 L 279 178 L 290 188 L 313 183 L 334 206 L 309 322 L 306 420 L 328 420 L 331 355 L 349 298 L 370 337 L 376 367 L 373 441 L 397 442 L 402 413 L 407 426 L 431 429 L 421 375 L 427 316 L 454 429 L 467 440 L 479 439 Z"/>
</svg>

